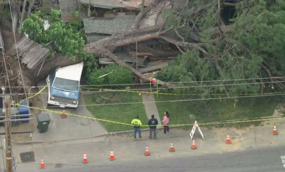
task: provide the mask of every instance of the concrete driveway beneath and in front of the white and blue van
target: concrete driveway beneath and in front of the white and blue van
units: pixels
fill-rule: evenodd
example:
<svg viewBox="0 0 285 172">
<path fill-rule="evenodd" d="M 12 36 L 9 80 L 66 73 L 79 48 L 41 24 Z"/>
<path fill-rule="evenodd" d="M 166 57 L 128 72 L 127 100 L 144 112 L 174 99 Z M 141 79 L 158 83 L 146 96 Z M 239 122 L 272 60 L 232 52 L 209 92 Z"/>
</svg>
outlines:
<svg viewBox="0 0 285 172">
<path fill-rule="evenodd" d="M 38 83 L 39 87 L 46 85 L 45 81 Z M 41 88 L 42 88 L 41 87 Z M 46 101 L 48 99 L 48 88 L 45 88 L 41 93 L 41 100 L 44 108 L 46 109 Z M 92 114 L 84 106 L 84 98 L 82 94 L 79 97 L 77 109 L 66 109 L 66 112 L 71 114 L 79 114 L 83 116 L 93 117 Z M 82 106 L 83 105 L 83 106 Z M 50 110 L 63 111 L 62 108 L 48 108 Z M 47 142 L 47 141 L 59 141 L 78 138 L 88 138 L 107 134 L 108 132 L 97 120 L 80 118 L 67 115 L 67 118 L 62 119 L 60 114 L 53 112 L 45 112 L 50 116 L 50 124 L 48 131 L 45 133 L 39 133 L 38 129 L 35 130 L 33 135 L 33 142 Z"/>
</svg>

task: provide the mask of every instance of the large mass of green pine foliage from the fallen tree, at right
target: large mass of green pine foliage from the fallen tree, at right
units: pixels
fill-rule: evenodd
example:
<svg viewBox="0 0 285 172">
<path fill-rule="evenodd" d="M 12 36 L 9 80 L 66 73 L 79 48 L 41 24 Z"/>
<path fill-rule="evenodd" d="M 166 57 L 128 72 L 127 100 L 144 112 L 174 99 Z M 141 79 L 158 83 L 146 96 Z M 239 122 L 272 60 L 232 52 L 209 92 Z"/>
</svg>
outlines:
<svg viewBox="0 0 285 172">
<path fill-rule="evenodd" d="M 186 10 L 180 11 L 180 15 L 172 15 L 173 11 L 166 13 L 170 19 L 166 22 L 166 27 L 176 26 L 178 34 L 185 38 L 184 41 L 189 42 L 193 42 L 191 34 L 199 32 L 200 40 L 194 42 L 205 43 L 207 54 L 198 52 L 195 48 L 187 50 L 156 77 L 165 81 L 195 82 L 184 84 L 187 86 L 226 85 L 196 88 L 203 97 L 210 97 L 209 93 L 217 92 L 227 92 L 230 96 L 234 96 L 240 93 L 260 93 L 262 89 L 263 92 L 283 89 L 285 85 L 276 82 L 280 81 L 279 79 L 246 80 L 285 76 L 285 3 L 281 0 L 270 2 L 252 0 L 237 3 L 236 17 L 227 26 L 229 31 L 223 34 L 213 34 L 213 28 L 217 30 L 219 27 L 217 1 L 205 0 L 199 4 L 194 3 L 196 9 L 198 6 L 211 3 L 199 14 L 189 13 Z M 197 24 L 191 25 L 190 21 Z M 180 26 L 188 23 L 190 27 L 179 27 L 179 23 Z M 179 38 L 175 32 L 171 34 Z M 229 79 L 238 80 L 201 82 Z M 188 89 L 188 91 L 191 93 L 198 90 Z"/>
</svg>

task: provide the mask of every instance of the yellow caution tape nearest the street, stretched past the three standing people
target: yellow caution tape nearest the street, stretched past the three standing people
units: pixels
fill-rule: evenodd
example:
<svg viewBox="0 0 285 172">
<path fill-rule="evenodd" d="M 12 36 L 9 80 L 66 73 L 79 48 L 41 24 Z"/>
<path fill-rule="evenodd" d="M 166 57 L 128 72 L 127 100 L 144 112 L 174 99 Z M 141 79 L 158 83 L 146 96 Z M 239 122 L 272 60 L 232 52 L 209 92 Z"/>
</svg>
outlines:
<svg viewBox="0 0 285 172">
<path fill-rule="evenodd" d="M 38 110 L 42 110 L 42 111 L 54 112 L 54 113 L 62 114 L 62 112 L 56 111 L 56 110 L 37 108 L 37 107 L 29 107 L 29 106 L 26 106 L 26 105 L 18 105 L 18 106 L 23 106 L 23 107 L 28 107 L 28 108 L 32 108 L 32 109 L 38 109 Z M 99 119 L 99 118 L 94 118 L 94 117 L 89 117 L 89 116 L 71 114 L 71 113 L 67 113 L 67 112 L 65 112 L 65 114 L 70 115 L 70 116 L 77 116 L 77 117 L 81 117 L 81 118 L 88 118 L 88 119 L 94 119 L 94 120 L 99 120 L 99 121 L 112 122 L 112 123 L 115 123 L 115 124 L 134 126 L 133 124 L 127 124 L 127 123 L 117 122 L 117 121 L 112 121 L 112 120 L 105 120 L 105 119 Z M 199 125 L 233 124 L 233 123 L 241 123 L 241 122 L 255 122 L 255 121 L 266 121 L 266 120 L 276 120 L 276 119 L 285 119 L 285 117 L 253 119 L 253 120 L 240 120 L 240 121 L 230 121 L 230 122 L 209 122 L 209 123 L 203 123 L 203 124 L 199 124 Z M 193 126 L 193 125 L 194 124 L 168 124 L 168 125 L 157 125 L 157 126 Z M 155 125 L 141 125 L 141 126 L 142 127 L 147 127 L 147 126 L 155 126 Z"/>
</svg>

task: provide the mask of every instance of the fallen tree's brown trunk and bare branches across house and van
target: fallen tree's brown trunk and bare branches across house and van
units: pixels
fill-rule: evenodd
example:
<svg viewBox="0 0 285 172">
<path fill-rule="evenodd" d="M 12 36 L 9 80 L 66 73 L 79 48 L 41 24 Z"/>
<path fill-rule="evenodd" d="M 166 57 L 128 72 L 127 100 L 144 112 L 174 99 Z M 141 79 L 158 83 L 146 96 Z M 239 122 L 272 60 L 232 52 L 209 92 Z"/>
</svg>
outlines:
<svg viewBox="0 0 285 172">
<path fill-rule="evenodd" d="M 132 45 L 135 42 L 144 42 L 144 41 L 151 40 L 151 39 L 165 39 L 163 35 L 168 33 L 170 30 L 172 30 L 172 27 L 168 29 L 163 29 L 163 24 L 157 24 L 155 26 L 138 28 L 138 23 L 143 18 L 142 16 L 145 15 L 148 11 L 150 11 L 153 7 L 155 7 L 155 4 L 157 4 L 158 2 L 159 2 L 158 0 L 155 0 L 152 3 L 152 5 L 146 8 L 142 8 L 140 14 L 137 16 L 135 20 L 132 30 L 130 30 L 129 32 L 125 32 L 122 34 L 115 34 L 115 35 L 106 37 L 104 39 L 98 40 L 96 42 L 86 44 L 84 46 L 84 51 L 91 53 L 94 58 L 99 57 L 99 56 L 108 56 L 109 58 L 114 60 L 117 64 L 123 65 L 125 67 L 129 67 L 133 71 L 133 73 L 141 80 L 141 82 L 149 81 L 149 77 L 147 77 L 146 75 L 143 75 L 142 73 L 137 71 L 135 68 L 133 68 L 131 65 L 117 58 L 112 53 L 112 51 L 117 47 Z M 168 41 L 168 39 L 169 38 L 167 38 L 166 41 Z M 171 43 L 175 44 L 176 40 L 172 39 L 172 41 L 174 42 L 171 42 Z M 180 44 L 179 41 L 177 43 Z M 199 46 L 199 44 L 196 44 L 196 43 L 193 43 L 193 45 Z M 182 46 L 186 47 L 187 45 L 186 46 L 182 45 Z M 139 43 L 138 49 L 144 50 L 152 54 L 156 54 L 160 57 L 171 57 L 171 56 L 177 56 L 181 54 L 180 51 L 174 51 L 174 52 L 168 53 L 164 51 L 154 50 L 140 43 Z M 25 73 L 24 74 L 24 78 L 25 78 L 24 80 L 26 83 L 25 85 L 35 85 L 38 81 L 44 79 L 52 70 L 56 69 L 57 67 L 63 67 L 67 65 L 76 64 L 78 62 L 81 62 L 82 60 L 84 59 L 79 58 L 78 56 L 76 56 L 74 60 L 70 60 L 68 56 L 60 56 L 56 54 L 53 58 L 46 59 L 42 65 L 38 65 L 37 67 L 33 69 L 28 69 L 27 67 L 21 66 L 23 73 Z M 10 70 L 12 71 L 12 73 L 17 73 L 16 72 L 17 68 L 15 69 L 11 68 Z M 160 84 L 166 85 L 167 87 L 172 86 L 170 84 L 166 84 L 163 81 L 160 81 Z"/>
</svg>

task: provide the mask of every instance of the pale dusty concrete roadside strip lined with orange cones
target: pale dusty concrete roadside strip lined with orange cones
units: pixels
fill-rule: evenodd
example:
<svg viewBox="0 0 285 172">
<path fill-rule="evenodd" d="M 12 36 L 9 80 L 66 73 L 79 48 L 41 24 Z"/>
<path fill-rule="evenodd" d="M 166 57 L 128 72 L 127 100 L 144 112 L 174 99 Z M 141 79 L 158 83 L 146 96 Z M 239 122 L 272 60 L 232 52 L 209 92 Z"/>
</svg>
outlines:
<svg viewBox="0 0 285 172">
<path fill-rule="evenodd" d="M 35 164 L 31 167 L 37 167 L 40 164 L 41 157 L 44 157 L 46 164 L 53 165 L 82 165 L 83 153 L 87 153 L 88 166 L 92 165 L 121 165 L 133 161 L 141 161 L 148 158 L 151 162 L 155 159 L 164 157 L 189 157 L 197 155 L 207 155 L 213 153 L 229 153 L 232 151 L 258 150 L 264 148 L 273 148 L 275 146 L 284 146 L 285 120 L 273 120 L 262 122 L 264 126 L 251 126 L 242 129 L 236 128 L 205 128 L 201 127 L 204 138 L 196 131 L 194 135 L 197 150 L 191 150 L 192 140 L 190 140 L 190 131 L 181 129 L 172 129 L 170 133 L 162 134 L 158 132 L 158 139 L 150 140 L 146 138 L 143 141 L 132 141 L 131 135 L 121 136 L 101 136 L 92 140 L 73 140 L 54 143 L 42 143 L 32 145 L 13 145 L 14 156 L 21 159 L 20 153 L 33 151 L 35 154 Z M 272 135 L 273 124 L 276 124 L 278 135 Z M 227 132 L 230 134 L 232 144 L 225 144 Z M 147 136 L 148 132 L 142 132 Z M 170 142 L 173 141 L 175 152 L 170 153 Z M 145 157 L 146 145 L 150 151 L 150 156 Z M 116 160 L 110 162 L 110 150 L 114 150 Z M 135 153 L 134 153 L 135 152 Z M 285 152 L 280 152 L 280 156 Z M 4 155 L 5 156 L 5 155 Z M 278 160 L 280 157 L 278 157 Z M 280 161 L 281 162 L 281 161 Z M 30 163 L 28 163 L 30 164 Z M 26 163 L 20 163 L 19 167 L 27 167 Z M 54 169 L 56 170 L 56 169 Z"/>
</svg>

